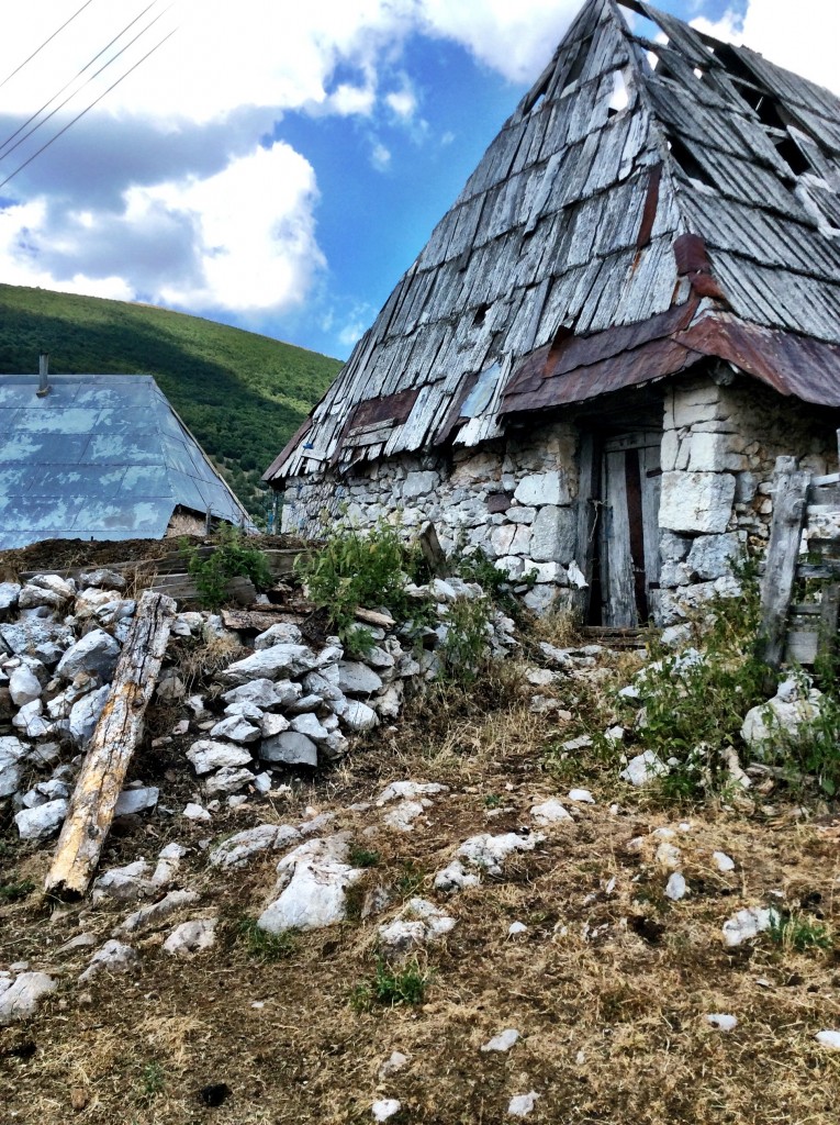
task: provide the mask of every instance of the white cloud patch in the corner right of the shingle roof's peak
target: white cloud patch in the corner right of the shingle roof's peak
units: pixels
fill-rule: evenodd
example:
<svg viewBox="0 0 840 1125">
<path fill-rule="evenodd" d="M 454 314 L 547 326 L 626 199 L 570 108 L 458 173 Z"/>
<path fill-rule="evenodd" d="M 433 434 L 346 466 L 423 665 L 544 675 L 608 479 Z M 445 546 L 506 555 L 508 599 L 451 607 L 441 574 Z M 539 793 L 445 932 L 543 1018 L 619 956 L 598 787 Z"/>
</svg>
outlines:
<svg viewBox="0 0 840 1125">
<path fill-rule="evenodd" d="M 834 0 L 748 0 L 741 15 L 729 9 L 720 20 L 695 19 L 694 27 L 719 39 L 743 43 L 787 70 L 840 92 L 837 44 L 840 6 Z"/>
</svg>

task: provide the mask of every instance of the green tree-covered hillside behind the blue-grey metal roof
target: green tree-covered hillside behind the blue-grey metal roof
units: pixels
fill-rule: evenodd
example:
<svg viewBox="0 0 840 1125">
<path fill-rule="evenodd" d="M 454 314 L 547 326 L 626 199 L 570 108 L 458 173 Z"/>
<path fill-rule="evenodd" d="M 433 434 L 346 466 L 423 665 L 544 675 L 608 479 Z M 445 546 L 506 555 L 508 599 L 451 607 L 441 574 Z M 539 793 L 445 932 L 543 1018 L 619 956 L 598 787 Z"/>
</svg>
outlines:
<svg viewBox="0 0 840 1125">
<path fill-rule="evenodd" d="M 0 375 L 153 375 L 255 514 L 260 476 L 341 362 L 198 316 L 147 305 L 0 285 Z"/>
</svg>

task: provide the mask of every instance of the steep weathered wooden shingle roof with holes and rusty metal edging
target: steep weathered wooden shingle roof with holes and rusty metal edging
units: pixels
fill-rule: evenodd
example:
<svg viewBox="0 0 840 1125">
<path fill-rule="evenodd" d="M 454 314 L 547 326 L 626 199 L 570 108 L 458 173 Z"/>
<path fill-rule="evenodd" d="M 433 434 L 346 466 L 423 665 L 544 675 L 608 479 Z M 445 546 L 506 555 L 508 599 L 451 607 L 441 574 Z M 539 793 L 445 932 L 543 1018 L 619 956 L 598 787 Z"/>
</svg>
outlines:
<svg viewBox="0 0 840 1125">
<path fill-rule="evenodd" d="M 471 446 L 711 354 L 840 405 L 838 344 L 840 100 L 589 0 L 265 479 Z"/>
</svg>

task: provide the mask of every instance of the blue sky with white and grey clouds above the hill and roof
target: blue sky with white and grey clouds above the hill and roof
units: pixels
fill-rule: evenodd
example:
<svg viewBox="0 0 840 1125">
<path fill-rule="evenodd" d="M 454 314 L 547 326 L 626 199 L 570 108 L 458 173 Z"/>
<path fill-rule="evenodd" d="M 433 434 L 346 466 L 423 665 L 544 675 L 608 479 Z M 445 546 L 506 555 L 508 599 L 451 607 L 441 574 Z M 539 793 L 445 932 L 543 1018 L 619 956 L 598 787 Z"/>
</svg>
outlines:
<svg viewBox="0 0 840 1125">
<path fill-rule="evenodd" d="M 0 180 L 103 97 L 0 188 L 0 281 L 151 302 L 340 357 L 579 8 L 153 0 L 141 15 L 147 3 L 40 0 L 7 14 Z M 836 0 L 660 6 L 837 86 Z M 58 101 L 78 92 L 10 151 L 2 141 L 65 82 Z"/>
</svg>

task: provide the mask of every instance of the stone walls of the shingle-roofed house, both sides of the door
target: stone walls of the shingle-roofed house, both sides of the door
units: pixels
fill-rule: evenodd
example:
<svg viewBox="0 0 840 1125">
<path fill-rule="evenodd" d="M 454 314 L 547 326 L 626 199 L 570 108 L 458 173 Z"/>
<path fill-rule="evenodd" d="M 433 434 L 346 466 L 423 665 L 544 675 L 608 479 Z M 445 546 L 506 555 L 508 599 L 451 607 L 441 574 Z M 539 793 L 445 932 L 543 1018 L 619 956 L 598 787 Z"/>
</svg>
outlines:
<svg viewBox="0 0 840 1125">
<path fill-rule="evenodd" d="M 776 458 L 793 454 L 815 475 L 837 468 L 839 412 L 786 398 L 746 376 L 672 380 L 665 390 L 662 568 L 657 618 L 669 623 L 715 592 L 733 592 L 732 560 L 769 536 Z M 478 450 L 362 464 L 338 483 L 289 482 L 282 530 L 317 537 L 342 508 L 360 525 L 396 510 L 406 528 L 432 520 L 446 551 L 480 546 L 513 577 L 535 570 L 526 596 L 541 611 L 581 568 L 576 543 L 578 430 L 535 426 Z"/>
</svg>

